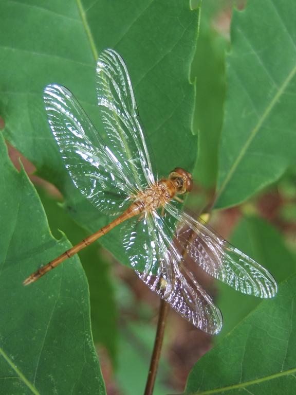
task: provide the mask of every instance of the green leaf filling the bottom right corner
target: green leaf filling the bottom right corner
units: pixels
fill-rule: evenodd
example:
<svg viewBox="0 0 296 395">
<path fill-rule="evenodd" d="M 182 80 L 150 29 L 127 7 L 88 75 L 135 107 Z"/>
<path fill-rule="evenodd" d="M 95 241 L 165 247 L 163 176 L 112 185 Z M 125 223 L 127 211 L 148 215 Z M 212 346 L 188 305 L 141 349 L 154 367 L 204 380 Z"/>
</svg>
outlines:
<svg viewBox="0 0 296 395">
<path fill-rule="evenodd" d="M 296 392 L 296 275 L 192 369 L 185 394 Z"/>
</svg>

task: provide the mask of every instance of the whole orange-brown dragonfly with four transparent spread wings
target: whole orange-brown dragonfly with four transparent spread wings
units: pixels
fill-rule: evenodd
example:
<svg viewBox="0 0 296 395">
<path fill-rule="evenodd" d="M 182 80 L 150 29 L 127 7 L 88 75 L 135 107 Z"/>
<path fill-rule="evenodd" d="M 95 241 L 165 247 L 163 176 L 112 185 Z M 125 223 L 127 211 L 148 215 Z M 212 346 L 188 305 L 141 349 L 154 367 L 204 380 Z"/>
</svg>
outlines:
<svg viewBox="0 0 296 395">
<path fill-rule="evenodd" d="M 180 196 L 193 186 L 190 172 L 176 167 L 167 178 L 154 176 L 131 78 L 115 50 L 105 49 L 99 56 L 96 92 L 104 139 L 64 86 L 46 86 L 44 102 L 73 183 L 100 212 L 115 219 L 39 268 L 24 284 L 121 225 L 124 251 L 139 278 L 202 331 L 218 333 L 223 318 L 187 268 L 188 259 L 237 291 L 273 297 L 277 284 L 263 266 L 182 209 Z"/>
</svg>

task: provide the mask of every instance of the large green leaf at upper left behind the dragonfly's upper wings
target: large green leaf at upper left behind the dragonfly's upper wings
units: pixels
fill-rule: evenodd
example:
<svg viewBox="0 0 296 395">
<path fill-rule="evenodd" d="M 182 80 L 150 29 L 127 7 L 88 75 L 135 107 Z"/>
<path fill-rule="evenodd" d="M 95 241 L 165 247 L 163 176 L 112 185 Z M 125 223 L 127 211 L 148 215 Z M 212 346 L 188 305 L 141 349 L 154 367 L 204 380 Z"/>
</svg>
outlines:
<svg viewBox="0 0 296 395">
<path fill-rule="evenodd" d="M 197 140 L 191 131 L 194 87 L 189 82 L 198 10 L 189 1 L 6 1 L 0 5 L 0 107 L 5 136 L 53 182 L 71 216 L 88 231 L 109 222 L 73 186 L 49 130 L 42 100 L 48 83 L 75 94 L 104 134 L 95 97 L 98 53 L 116 49 L 125 59 L 158 175 L 176 166 L 192 170 Z M 15 28 L 17 26 L 17 28 Z M 156 166 L 155 166 L 156 167 Z M 128 263 L 118 231 L 101 243 Z"/>
</svg>

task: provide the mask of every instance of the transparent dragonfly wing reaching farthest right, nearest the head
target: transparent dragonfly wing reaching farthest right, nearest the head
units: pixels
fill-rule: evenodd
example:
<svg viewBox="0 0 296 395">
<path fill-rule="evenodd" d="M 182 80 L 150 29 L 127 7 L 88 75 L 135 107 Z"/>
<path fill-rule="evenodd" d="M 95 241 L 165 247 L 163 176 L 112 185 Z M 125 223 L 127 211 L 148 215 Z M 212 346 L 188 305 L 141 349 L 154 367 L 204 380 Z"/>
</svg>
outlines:
<svg viewBox="0 0 296 395">
<path fill-rule="evenodd" d="M 278 286 L 260 264 L 216 234 L 207 224 L 179 211 L 171 203 L 165 209 L 177 224 L 176 248 L 186 248 L 188 256 L 207 273 L 244 294 L 273 297 Z M 172 230 L 172 229 L 171 229 Z"/>
</svg>

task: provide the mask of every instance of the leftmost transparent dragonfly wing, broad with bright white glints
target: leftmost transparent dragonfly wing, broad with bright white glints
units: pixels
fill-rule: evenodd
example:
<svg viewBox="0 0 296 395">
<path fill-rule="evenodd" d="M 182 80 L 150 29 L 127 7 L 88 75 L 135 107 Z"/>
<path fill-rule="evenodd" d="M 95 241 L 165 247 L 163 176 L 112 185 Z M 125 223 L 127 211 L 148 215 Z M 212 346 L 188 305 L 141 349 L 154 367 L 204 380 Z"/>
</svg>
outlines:
<svg viewBox="0 0 296 395">
<path fill-rule="evenodd" d="M 104 144 L 67 88 L 48 85 L 44 102 L 50 129 L 76 187 L 102 212 L 121 213 L 135 192 L 131 172 Z"/>
</svg>

